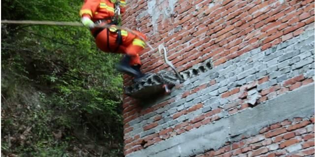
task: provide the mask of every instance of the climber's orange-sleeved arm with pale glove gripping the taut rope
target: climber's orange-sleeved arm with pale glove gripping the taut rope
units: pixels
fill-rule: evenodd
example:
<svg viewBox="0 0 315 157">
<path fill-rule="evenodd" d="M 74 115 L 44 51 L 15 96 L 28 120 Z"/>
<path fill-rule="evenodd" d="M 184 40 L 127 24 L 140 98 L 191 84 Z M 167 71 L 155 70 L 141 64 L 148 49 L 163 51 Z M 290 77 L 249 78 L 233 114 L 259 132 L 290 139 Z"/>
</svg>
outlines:
<svg viewBox="0 0 315 157">
<path fill-rule="evenodd" d="M 91 20 L 99 5 L 100 0 L 84 0 L 84 4 L 80 10 L 82 24 L 86 27 L 93 28 L 94 22 Z"/>
</svg>

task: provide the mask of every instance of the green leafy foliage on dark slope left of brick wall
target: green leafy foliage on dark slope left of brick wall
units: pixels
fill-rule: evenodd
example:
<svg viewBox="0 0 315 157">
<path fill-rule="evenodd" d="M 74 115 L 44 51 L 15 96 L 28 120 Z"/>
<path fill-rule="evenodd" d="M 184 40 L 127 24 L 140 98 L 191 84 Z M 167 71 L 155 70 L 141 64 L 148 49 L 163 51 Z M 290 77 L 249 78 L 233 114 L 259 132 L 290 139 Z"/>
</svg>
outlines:
<svg viewBox="0 0 315 157">
<path fill-rule="evenodd" d="M 82 3 L 2 0 L 1 13 L 8 20 L 79 21 Z M 114 69 L 119 58 L 98 51 L 84 27 L 1 25 L 2 150 L 70 157 L 64 150 L 73 143 L 93 141 L 115 143 L 109 154 L 122 156 L 122 76 Z M 32 126 L 29 143 L 17 142 L 21 125 Z M 58 131 L 63 136 L 56 139 L 52 132 Z M 10 147 L 9 132 L 17 136 Z"/>
</svg>

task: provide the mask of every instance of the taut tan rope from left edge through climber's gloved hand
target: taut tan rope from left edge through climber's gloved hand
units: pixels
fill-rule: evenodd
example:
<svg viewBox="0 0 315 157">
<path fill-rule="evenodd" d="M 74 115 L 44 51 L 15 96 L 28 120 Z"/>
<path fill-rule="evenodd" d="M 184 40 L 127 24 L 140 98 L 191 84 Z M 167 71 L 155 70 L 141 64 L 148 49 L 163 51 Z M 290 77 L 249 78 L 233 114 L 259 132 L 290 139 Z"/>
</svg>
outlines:
<svg viewBox="0 0 315 157">
<path fill-rule="evenodd" d="M 30 24 L 30 25 L 52 25 L 52 26 L 83 26 L 82 23 L 79 22 L 58 22 L 58 21 L 31 21 L 31 20 L 22 20 L 22 21 L 15 21 L 15 20 L 1 20 L 1 24 Z M 109 28 L 111 25 L 105 24 L 102 26 L 95 26 L 98 28 Z M 116 26 L 117 29 L 124 29 L 128 32 L 130 32 L 133 35 L 136 35 L 137 37 L 139 37 L 141 40 L 143 40 L 146 45 L 148 45 L 148 47 L 151 50 L 154 50 L 153 47 L 146 42 L 146 40 L 141 37 L 138 36 L 136 33 L 133 32 L 133 30 L 123 27 L 123 26 Z"/>
</svg>

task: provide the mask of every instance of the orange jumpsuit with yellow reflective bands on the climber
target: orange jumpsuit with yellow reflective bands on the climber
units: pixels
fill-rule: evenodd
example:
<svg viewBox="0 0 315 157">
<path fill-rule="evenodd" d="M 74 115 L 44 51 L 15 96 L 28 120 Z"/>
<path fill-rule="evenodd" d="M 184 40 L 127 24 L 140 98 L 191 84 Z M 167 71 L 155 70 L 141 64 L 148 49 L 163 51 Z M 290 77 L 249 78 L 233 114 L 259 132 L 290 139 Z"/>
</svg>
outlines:
<svg viewBox="0 0 315 157">
<path fill-rule="evenodd" d="M 126 2 L 125 0 L 121 0 L 120 2 L 121 13 L 124 13 Z M 85 0 L 80 10 L 81 17 L 89 17 L 94 22 L 103 20 L 103 22 L 107 24 L 111 22 L 109 19 L 114 17 L 114 15 L 114 3 L 110 2 L 110 0 Z M 92 34 L 95 34 L 97 29 L 99 28 L 93 28 L 91 30 Z M 106 28 L 100 31 L 97 36 L 95 36 L 96 46 L 103 52 L 113 52 L 117 50 L 119 53 L 128 54 L 131 56 L 129 63 L 131 66 L 136 64 L 141 65 L 139 52 L 144 49 L 145 43 L 138 36 L 141 36 L 144 39 L 146 39 L 146 36 L 138 31 L 133 31 L 133 33 L 136 34 L 134 35 L 126 30 L 121 30 L 123 42 L 121 45 L 118 45 L 116 43 L 116 38 L 118 36 L 117 32 L 115 32 L 116 30 L 117 28 L 115 25 L 112 25 L 112 27 L 109 28 L 109 31 L 107 31 Z M 108 35 L 107 32 L 109 32 Z"/>
</svg>

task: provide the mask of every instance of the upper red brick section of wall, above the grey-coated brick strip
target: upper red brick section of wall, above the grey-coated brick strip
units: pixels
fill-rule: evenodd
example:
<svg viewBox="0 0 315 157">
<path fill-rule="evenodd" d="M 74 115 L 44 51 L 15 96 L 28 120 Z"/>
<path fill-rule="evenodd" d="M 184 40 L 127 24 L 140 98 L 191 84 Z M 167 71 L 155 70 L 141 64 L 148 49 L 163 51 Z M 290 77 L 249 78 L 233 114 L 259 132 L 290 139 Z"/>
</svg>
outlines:
<svg viewBox="0 0 315 157">
<path fill-rule="evenodd" d="M 303 26 L 314 22 L 314 0 L 283 1 L 178 0 L 174 16 L 165 20 L 160 16 L 158 32 L 153 33 L 149 14 L 136 20 L 147 9 L 147 1 L 138 0 L 129 2 L 123 23 L 146 33 L 154 48 L 164 43 L 170 60 L 184 71 L 210 57 L 217 66 L 255 48 L 265 50 L 301 34 Z M 160 0 L 159 7 L 166 5 Z M 170 34 L 177 26 L 183 29 Z M 141 58 L 145 72 L 167 68 L 156 51 L 146 51 Z"/>
</svg>

